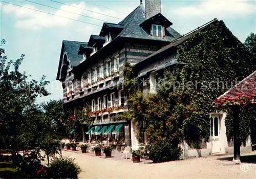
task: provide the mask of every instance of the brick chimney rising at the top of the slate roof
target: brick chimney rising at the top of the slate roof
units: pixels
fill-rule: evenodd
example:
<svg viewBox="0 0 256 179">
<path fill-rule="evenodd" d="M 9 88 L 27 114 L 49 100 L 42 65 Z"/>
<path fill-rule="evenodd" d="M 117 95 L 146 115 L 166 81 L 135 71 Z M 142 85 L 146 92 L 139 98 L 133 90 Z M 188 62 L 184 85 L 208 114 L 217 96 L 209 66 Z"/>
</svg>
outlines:
<svg viewBox="0 0 256 179">
<path fill-rule="evenodd" d="M 145 0 L 146 19 L 161 13 L 161 0 Z"/>
</svg>

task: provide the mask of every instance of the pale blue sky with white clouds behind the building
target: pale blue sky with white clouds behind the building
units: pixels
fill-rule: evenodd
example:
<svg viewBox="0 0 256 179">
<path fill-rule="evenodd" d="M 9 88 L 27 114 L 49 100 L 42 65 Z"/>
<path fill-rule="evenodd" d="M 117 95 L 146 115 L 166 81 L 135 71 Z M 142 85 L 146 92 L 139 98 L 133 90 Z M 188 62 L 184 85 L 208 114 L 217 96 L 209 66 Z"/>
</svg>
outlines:
<svg viewBox="0 0 256 179">
<path fill-rule="evenodd" d="M 2 0 L 0 0 L 2 1 Z M 33 1 L 33 0 L 30 0 Z M 58 61 L 62 40 L 85 41 L 91 34 L 99 34 L 103 21 L 119 23 L 119 18 L 124 18 L 132 12 L 140 1 L 64 1 L 57 2 L 72 5 L 78 8 L 59 4 L 53 1 L 33 1 L 61 10 L 51 9 L 27 1 L 10 1 L 19 6 L 37 9 L 52 14 L 65 16 L 92 23 L 98 26 L 81 23 L 78 21 L 61 18 L 41 12 L 36 12 L 22 7 L 2 3 L 0 38 L 6 39 L 6 55 L 9 60 L 17 59 L 20 54 L 25 54 L 25 60 L 20 70 L 26 71 L 34 79 L 47 76 L 51 83 L 48 91 L 49 97 L 38 99 L 38 102 L 62 98 L 61 83 L 56 81 Z M 86 3 L 88 2 L 88 3 Z M 161 1 L 162 14 L 173 23 L 173 28 L 181 34 L 201 26 L 215 17 L 224 20 L 231 32 L 244 42 L 251 32 L 256 33 L 256 7 L 255 1 Z M 94 4 L 94 5 L 93 5 Z M 111 8 L 116 11 L 103 8 Z M 90 11 L 82 10 L 87 9 Z M 109 16 L 117 17 L 109 17 Z M 83 15 L 83 16 L 81 16 Z M 90 16 L 100 20 L 84 17 Z"/>
</svg>

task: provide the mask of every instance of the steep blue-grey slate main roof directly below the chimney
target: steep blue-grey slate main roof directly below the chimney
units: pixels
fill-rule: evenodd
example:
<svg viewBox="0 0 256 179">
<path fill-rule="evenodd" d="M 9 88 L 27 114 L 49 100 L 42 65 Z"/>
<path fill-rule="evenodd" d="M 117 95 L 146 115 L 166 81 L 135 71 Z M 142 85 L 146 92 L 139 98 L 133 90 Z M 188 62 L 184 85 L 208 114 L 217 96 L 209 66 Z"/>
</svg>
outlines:
<svg viewBox="0 0 256 179">
<path fill-rule="evenodd" d="M 132 13 L 130 13 L 128 16 L 126 16 L 118 24 L 118 25 L 124 26 L 124 29 L 118 36 L 148 39 L 148 40 L 161 40 L 161 41 L 172 41 L 178 37 L 181 37 L 181 35 L 171 27 L 166 28 L 166 30 L 170 34 L 170 36 L 166 35 L 163 38 L 151 36 L 140 26 L 140 24 L 142 24 L 145 20 L 146 20 L 145 10 L 144 10 L 143 6 L 137 7 Z"/>
</svg>

